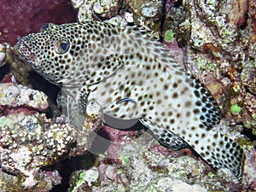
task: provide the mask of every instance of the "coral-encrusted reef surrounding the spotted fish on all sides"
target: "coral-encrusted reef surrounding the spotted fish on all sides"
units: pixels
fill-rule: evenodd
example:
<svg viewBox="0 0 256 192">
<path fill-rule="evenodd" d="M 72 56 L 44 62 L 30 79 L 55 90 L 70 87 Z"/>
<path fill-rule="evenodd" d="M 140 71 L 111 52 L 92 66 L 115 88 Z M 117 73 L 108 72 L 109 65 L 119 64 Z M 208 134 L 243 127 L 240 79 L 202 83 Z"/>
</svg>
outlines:
<svg viewBox="0 0 256 192">
<path fill-rule="evenodd" d="M 0 191 L 256 191 L 253 0 L 2 0 L 0 10 Z M 14 45 L 75 16 L 160 38 L 217 99 L 224 115 L 216 129 L 246 153 L 241 181 L 188 148 L 162 147 L 143 127 L 102 125 L 97 103 L 81 129 L 68 125 L 55 103 L 60 89 L 20 61 Z"/>
</svg>

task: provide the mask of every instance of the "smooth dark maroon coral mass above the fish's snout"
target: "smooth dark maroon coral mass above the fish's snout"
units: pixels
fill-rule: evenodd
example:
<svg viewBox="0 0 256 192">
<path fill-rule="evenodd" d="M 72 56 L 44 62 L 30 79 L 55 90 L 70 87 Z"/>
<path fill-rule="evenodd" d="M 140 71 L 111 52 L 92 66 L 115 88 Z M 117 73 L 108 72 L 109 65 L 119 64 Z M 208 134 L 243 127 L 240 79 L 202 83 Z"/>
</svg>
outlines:
<svg viewBox="0 0 256 192">
<path fill-rule="evenodd" d="M 75 11 L 65 0 L 2 0 L 0 43 L 14 45 L 17 37 L 38 32 L 45 23 L 71 22 L 75 15 Z"/>
</svg>

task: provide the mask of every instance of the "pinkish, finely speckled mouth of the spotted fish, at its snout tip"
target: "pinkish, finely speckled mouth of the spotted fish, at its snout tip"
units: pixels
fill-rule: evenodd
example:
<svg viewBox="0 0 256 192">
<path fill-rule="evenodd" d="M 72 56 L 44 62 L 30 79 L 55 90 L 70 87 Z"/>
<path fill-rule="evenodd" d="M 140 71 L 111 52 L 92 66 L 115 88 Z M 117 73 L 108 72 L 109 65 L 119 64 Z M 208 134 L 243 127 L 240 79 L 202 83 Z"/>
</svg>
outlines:
<svg viewBox="0 0 256 192">
<path fill-rule="evenodd" d="M 37 63 L 37 55 L 32 51 L 32 49 L 26 44 L 24 40 L 20 40 L 17 44 L 18 53 L 30 65 L 35 65 Z"/>
</svg>

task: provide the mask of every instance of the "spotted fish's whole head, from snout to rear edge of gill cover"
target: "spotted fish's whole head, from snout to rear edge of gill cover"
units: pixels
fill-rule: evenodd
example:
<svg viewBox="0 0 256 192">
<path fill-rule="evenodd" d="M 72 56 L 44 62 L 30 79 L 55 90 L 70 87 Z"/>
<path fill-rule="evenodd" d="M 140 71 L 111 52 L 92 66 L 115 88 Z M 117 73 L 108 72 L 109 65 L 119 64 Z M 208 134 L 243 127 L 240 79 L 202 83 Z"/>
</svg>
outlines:
<svg viewBox="0 0 256 192">
<path fill-rule="evenodd" d="M 17 50 L 44 79 L 62 87 L 81 87 L 97 84 L 123 66 L 122 55 L 111 49 L 118 33 L 108 23 L 48 24 L 21 38 Z"/>
</svg>

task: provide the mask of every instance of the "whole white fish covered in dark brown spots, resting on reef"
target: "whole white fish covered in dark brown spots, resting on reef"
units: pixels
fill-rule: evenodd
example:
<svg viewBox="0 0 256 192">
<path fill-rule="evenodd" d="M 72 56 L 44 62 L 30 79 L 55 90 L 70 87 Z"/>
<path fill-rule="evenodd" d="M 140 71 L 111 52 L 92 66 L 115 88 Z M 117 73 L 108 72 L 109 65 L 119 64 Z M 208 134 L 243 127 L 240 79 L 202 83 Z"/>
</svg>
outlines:
<svg viewBox="0 0 256 192">
<path fill-rule="evenodd" d="M 71 123 L 96 101 L 108 117 L 137 119 L 167 148 L 193 148 L 215 170 L 227 168 L 241 178 L 242 148 L 212 129 L 221 118 L 218 103 L 143 32 L 97 21 L 49 24 L 21 38 L 17 49 L 62 87 Z"/>
</svg>

